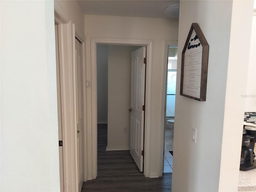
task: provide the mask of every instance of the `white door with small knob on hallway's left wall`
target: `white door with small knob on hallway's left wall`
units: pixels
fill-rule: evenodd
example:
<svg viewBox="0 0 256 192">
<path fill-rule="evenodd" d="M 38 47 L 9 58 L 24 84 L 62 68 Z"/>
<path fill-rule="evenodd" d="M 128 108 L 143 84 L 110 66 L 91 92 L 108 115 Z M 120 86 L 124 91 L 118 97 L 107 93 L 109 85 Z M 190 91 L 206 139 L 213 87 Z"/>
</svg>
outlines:
<svg viewBox="0 0 256 192">
<path fill-rule="evenodd" d="M 83 100 L 83 66 L 82 43 L 76 39 L 76 122 L 77 122 L 77 154 L 78 154 L 78 190 L 82 190 L 84 182 L 84 100 Z"/>
</svg>

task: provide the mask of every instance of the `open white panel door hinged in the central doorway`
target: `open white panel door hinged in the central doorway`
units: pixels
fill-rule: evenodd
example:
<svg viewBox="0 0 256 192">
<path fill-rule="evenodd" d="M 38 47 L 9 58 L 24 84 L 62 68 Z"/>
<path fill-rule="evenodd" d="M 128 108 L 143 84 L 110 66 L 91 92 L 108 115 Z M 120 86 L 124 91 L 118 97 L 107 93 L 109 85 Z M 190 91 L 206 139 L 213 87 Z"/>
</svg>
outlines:
<svg viewBox="0 0 256 192">
<path fill-rule="evenodd" d="M 131 105 L 130 105 L 130 154 L 139 170 L 143 171 L 143 143 L 144 143 L 144 94 L 146 47 L 132 52 L 131 70 Z"/>
</svg>

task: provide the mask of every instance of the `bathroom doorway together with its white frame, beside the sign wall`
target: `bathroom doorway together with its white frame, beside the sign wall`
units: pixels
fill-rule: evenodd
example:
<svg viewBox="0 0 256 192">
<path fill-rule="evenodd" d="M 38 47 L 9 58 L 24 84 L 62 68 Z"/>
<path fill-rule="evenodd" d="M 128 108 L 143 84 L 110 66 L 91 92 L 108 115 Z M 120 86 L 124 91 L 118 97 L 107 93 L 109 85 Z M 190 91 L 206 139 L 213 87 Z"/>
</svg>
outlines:
<svg viewBox="0 0 256 192">
<path fill-rule="evenodd" d="M 162 110 L 161 110 L 161 135 L 162 146 L 160 148 L 162 174 L 172 173 L 173 140 L 174 140 L 174 116 L 176 94 L 178 42 L 165 41 L 164 43 L 164 67 L 162 83 Z M 169 122 L 168 122 L 169 121 Z"/>
</svg>

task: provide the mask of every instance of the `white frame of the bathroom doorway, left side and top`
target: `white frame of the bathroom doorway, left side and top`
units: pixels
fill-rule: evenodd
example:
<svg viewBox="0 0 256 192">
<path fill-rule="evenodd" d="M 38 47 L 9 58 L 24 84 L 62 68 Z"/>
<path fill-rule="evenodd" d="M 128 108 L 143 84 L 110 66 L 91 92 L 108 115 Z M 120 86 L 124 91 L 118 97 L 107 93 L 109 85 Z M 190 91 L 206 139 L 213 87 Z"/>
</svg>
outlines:
<svg viewBox="0 0 256 192">
<path fill-rule="evenodd" d="M 165 124 L 165 106 L 166 106 L 166 81 L 167 81 L 167 64 L 168 64 L 168 46 L 178 46 L 178 41 L 164 41 L 164 64 L 162 73 L 162 102 L 161 102 L 161 123 L 160 123 L 160 157 L 159 170 L 160 176 L 164 171 L 164 124 Z M 176 86 L 177 87 L 177 86 Z M 175 116 L 175 115 L 174 115 Z"/>
</svg>

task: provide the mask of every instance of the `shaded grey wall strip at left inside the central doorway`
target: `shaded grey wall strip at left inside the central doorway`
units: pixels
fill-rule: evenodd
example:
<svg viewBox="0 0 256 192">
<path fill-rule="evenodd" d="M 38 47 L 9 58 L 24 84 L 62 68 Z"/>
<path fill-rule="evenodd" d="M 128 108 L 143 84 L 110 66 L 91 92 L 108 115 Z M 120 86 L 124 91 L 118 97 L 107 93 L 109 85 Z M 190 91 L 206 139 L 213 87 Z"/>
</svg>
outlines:
<svg viewBox="0 0 256 192">
<path fill-rule="evenodd" d="M 108 45 L 97 45 L 97 121 L 108 122 Z"/>
</svg>

